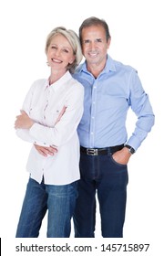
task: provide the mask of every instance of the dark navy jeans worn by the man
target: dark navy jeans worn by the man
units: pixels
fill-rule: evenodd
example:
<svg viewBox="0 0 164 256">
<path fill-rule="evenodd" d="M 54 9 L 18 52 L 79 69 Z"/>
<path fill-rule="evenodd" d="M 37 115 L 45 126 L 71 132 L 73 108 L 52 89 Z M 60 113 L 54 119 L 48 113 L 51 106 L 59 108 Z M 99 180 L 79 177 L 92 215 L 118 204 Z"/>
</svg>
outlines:
<svg viewBox="0 0 164 256">
<path fill-rule="evenodd" d="M 128 168 L 108 155 L 80 156 L 81 179 L 74 214 L 76 238 L 94 238 L 96 193 L 104 238 L 122 238 L 125 220 Z"/>
</svg>

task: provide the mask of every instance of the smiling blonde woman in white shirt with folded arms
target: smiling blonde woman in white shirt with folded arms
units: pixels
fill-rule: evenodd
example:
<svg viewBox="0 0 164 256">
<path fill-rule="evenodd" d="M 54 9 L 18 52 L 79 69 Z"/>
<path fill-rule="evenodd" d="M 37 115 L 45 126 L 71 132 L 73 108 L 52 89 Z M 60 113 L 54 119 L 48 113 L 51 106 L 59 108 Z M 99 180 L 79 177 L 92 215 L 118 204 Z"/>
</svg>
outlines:
<svg viewBox="0 0 164 256">
<path fill-rule="evenodd" d="M 46 209 L 46 236 L 69 237 L 77 198 L 77 125 L 84 98 L 83 86 L 71 75 L 82 59 L 77 34 L 65 27 L 53 29 L 46 39 L 46 57 L 51 69 L 49 79 L 34 82 L 15 120 L 17 135 L 33 144 L 16 238 L 38 237 Z M 36 145 L 52 148 L 51 155 L 39 154 Z"/>
</svg>

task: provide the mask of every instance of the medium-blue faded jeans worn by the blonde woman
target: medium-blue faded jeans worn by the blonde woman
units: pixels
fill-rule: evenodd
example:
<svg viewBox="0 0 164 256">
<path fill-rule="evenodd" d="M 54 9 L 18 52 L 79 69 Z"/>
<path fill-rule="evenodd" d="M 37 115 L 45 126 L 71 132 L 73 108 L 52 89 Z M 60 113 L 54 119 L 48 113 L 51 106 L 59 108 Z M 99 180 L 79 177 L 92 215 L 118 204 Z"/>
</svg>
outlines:
<svg viewBox="0 0 164 256">
<path fill-rule="evenodd" d="M 68 238 L 77 199 L 77 182 L 55 186 L 29 178 L 16 238 L 37 238 L 47 214 L 47 238 Z"/>
</svg>

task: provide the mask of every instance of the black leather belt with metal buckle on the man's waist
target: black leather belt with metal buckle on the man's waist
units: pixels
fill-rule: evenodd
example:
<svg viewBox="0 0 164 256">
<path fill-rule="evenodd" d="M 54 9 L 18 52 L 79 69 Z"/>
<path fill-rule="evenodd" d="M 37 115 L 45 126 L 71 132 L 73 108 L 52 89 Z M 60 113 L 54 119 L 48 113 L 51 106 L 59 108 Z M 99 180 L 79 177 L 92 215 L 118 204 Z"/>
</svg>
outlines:
<svg viewBox="0 0 164 256">
<path fill-rule="evenodd" d="M 108 153 L 114 153 L 121 150 L 124 144 L 119 144 L 115 146 L 103 147 L 103 148 L 86 148 L 80 146 L 80 152 L 86 155 L 108 155 Z"/>
</svg>

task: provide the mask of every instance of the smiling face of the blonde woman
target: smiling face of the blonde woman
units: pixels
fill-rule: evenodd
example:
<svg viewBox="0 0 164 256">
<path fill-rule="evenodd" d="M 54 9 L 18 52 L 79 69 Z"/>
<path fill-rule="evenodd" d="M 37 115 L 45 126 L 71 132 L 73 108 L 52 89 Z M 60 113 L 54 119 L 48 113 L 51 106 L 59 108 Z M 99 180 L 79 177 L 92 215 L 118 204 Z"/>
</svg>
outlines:
<svg viewBox="0 0 164 256">
<path fill-rule="evenodd" d="M 56 34 L 47 48 L 47 62 L 51 69 L 67 70 L 67 65 L 75 60 L 73 49 L 66 37 Z"/>
</svg>

